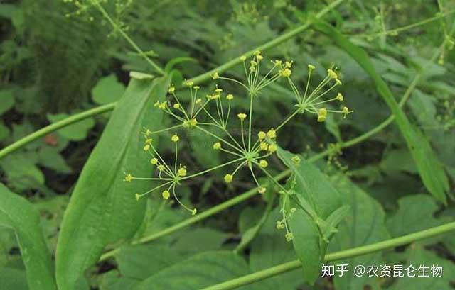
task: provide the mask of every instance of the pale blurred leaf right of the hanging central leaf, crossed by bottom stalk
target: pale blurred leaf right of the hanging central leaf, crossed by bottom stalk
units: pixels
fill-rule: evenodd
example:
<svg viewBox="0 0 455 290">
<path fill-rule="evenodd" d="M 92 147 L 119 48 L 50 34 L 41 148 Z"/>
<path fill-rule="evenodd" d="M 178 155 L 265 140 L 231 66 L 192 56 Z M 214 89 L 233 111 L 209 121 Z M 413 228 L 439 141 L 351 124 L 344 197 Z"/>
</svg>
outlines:
<svg viewBox="0 0 455 290">
<path fill-rule="evenodd" d="M 331 240 L 329 250 L 336 252 L 387 240 L 389 234 L 384 223 L 385 213 L 380 203 L 343 175 L 333 177 L 332 183 L 345 196 L 344 203 L 350 206 L 350 210 L 347 218 L 339 225 L 338 233 Z M 378 289 L 378 279 L 368 277 L 368 275 L 355 277 L 353 267 L 360 264 L 379 266 L 381 262 L 380 252 L 333 262 L 333 264 L 348 264 L 348 269 L 350 269 L 349 272 L 343 274 L 343 277 L 338 277 L 338 275 L 334 277 L 335 289 L 367 289 L 365 285 L 373 287 L 368 289 Z"/>
</svg>

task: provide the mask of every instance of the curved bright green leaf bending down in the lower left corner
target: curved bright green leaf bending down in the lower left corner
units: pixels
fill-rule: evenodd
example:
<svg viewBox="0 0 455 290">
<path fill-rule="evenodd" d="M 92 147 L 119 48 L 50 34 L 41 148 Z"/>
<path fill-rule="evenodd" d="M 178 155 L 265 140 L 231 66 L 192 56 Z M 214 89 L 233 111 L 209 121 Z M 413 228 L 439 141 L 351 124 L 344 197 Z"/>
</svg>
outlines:
<svg viewBox="0 0 455 290">
<path fill-rule="evenodd" d="M 26 267 L 28 287 L 31 290 L 57 289 L 38 212 L 31 203 L 9 191 L 3 184 L 0 184 L 0 226 L 12 228 L 16 233 Z"/>
</svg>

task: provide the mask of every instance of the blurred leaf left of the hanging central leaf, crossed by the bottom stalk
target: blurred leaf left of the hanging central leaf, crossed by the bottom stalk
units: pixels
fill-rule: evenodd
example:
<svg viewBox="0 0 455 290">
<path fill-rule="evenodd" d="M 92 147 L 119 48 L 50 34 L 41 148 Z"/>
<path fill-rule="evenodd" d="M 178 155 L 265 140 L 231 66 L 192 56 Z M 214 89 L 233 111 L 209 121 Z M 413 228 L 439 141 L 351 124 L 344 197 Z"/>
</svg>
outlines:
<svg viewBox="0 0 455 290">
<path fill-rule="evenodd" d="M 250 269 L 252 271 L 260 271 L 296 260 L 296 253 L 291 242 L 287 242 L 284 239 L 284 232 L 276 228 L 276 222 L 281 219 L 280 216 L 279 208 L 272 211 L 259 235 L 252 241 L 250 246 Z M 301 269 L 270 277 L 267 281 L 274 286 L 274 289 L 280 290 L 294 290 L 304 283 Z"/>
</svg>

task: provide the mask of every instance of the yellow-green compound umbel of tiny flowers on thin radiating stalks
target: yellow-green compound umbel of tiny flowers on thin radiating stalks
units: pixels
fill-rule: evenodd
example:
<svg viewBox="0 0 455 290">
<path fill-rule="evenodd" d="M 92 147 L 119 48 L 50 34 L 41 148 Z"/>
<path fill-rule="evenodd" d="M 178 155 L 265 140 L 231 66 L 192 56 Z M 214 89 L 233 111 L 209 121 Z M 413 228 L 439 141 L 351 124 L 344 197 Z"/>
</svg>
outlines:
<svg viewBox="0 0 455 290">
<path fill-rule="evenodd" d="M 183 208 L 186 208 L 195 215 L 197 213 L 196 208 L 190 208 L 178 199 L 176 187 L 187 179 L 207 174 L 213 170 L 224 169 L 230 165 L 233 165 L 233 169 L 225 174 L 224 182 L 228 184 L 233 182 L 237 172 L 241 169 L 246 169 L 250 172 L 259 193 L 263 194 L 267 191 L 264 186 L 259 184 L 257 179 L 257 174 L 261 172 L 266 177 L 272 179 L 272 182 L 282 189 L 280 192 L 287 194 L 286 189 L 284 189 L 281 184 L 274 181 L 267 168 L 269 166 L 269 157 L 278 149 L 277 137 L 279 135 L 279 130 L 298 113 L 314 113 L 317 116 L 317 121 L 323 122 L 328 113 L 341 113 L 343 116 L 346 116 L 351 112 L 346 106 L 342 106 L 338 111 L 325 107 L 328 102 L 341 102 L 344 99 L 341 93 L 336 94 L 333 98 L 323 99 L 324 96 L 328 95 L 336 86 L 341 84 L 338 74 L 336 74 L 333 69 L 328 69 L 327 76 L 323 81 L 316 89 L 309 92 L 311 72 L 315 69 L 313 65 L 309 65 L 309 77 L 306 88 L 304 89 L 304 94 L 302 95 L 291 80 L 293 62 L 274 60 L 272 61 L 271 67 L 262 76 L 261 68 L 264 67 L 264 57 L 259 51 L 255 52 L 249 62 L 247 62 L 247 57 L 245 56 L 240 57 L 240 60 L 242 61 L 245 71 L 246 82 L 222 76 L 218 72 L 215 72 L 212 75 L 212 78 L 215 81 L 222 80 L 232 82 L 245 89 L 250 103 L 248 111 L 237 113 L 236 116 L 231 116 L 233 111 L 231 110 L 232 101 L 235 99 L 233 94 L 225 92 L 217 85 L 209 94 L 200 96 L 200 87 L 191 81 L 186 82 L 186 87 L 188 87 L 190 91 L 190 98 L 185 104 L 183 104 L 181 98 L 178 97 L 176 87 L 173 85 L 168 88 L 168 96 L 170 98 L 164 101 L 156 101 L 154 107 L 157 110 L 166 113 L 177 123 L 169 128 L 156 131 L 144 128 L 144 150 L 150 153 L 150 164 L 154 167 L 154 177 L 134 177 L 132 174 L 126 174 L 124 181 L 132 182 L 137 179 L 146 179 L 158 182 L 159 185 L 142 194 L 137 194 L 137 199 L 140 199 L 142 196 L 150 194 L 151 192 L 161 190 L 161 196 L 164 199 L 169 199 L 173 196 L 173 199 L 180 203 Z M 290 113 L 282 123 L 279 123 L 274 128 L 256 131 L 252 126 L 256 99 L 260 97 L 260 94 L 265 87 L 279 79 L 284 79 L 289 83 L 289 86 L 296 97 L 296 109 L 294 112 Z M 326 88 L 328 84 L 330 84 L 330 86 Z M 232 134 L 232 128 L 240 129 L 240 137 Z M 175 158 L 173 164 L 167 164 L 154 146 L 154 136 L 168 131 L 176 132 L 177 130 L 199 130 L 210 135 L 215 139 L 215 143 L 212 145 L 213 150 L 226 153 L 226 155 L 230 156 L 230 161 L 193 173 L 190 169 L 187 169 L 185 165 L 178 162 L 177 143 L 179 142 L 180 137 L 177 133 L 174 133 L 174 135 L 171 136 L 171 141 L 175 143 Z M 293 162 L 300 162 L 300 158 L 298 156 L 294 157 Z M 285 206 L 287 205 L 282 205 L 282 220 L 277 222 L 277 228 L 284 228 L 287 230 L 285 238 L 289 241 L 292 240 L 293 235 L 289 231 L 287 219 L 296 211 L 296 209 L 291 208 L 291 210 L 287 212 L 284 210 Z"/>
</svg>

